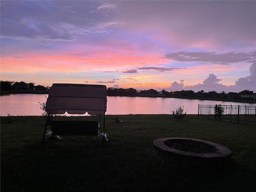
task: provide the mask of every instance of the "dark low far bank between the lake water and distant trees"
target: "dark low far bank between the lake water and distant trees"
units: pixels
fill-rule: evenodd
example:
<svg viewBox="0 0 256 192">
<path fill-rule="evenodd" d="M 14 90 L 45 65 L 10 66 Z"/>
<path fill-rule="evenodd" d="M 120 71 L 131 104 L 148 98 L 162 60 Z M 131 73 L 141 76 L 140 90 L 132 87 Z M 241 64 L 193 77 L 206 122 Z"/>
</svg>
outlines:
<svg viewBox="0 0 256 192">
<path fill-rule="evenodd" d="M 1 91 L 2 95 L 10 94 L 48 94 L 48 91 L 41 90 L 8 90 Z M 256 99 L 228 99 L 228 98 L 208 98 L 208 97 L 175 97 L 175 96 L 163 96 L 163 95 L 142 95 L 142 94 L 122 94 L 122 95 L 113 95 L 108 94 L 108 96 L 126 96 L 126 97 L 161 97 L 161 98 L 180 98 L 180 99 L 198 99 L 198 100 L 213 100 L 213 101 L 227 101 L 227 102 L 240 102 L 240 103 L 256 103 Z"/>
</svg>

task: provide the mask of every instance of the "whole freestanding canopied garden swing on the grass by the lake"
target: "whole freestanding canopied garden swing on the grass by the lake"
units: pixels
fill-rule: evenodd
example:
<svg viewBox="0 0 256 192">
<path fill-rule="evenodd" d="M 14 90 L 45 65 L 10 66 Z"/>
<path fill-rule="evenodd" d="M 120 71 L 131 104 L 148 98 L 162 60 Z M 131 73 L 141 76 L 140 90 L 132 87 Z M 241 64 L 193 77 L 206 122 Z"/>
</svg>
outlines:
<svg viewBox="0 0 256 192">
<path fill-rule="evenodd" d="M 44 142 L 54 141 L 102 141 L 105 136 L 105 113 L 107 95 L 105 85 L 92 84 L 52 84 L 46 101 L 47 120 L 42 138 Z M 103 140 L 46 140 L 45 136 L 98 136 L 100 131 L 99 120 L 56 120 L 59 114 L 103 115 Z M 55 115 L 55 118 L 53 116 Z M 50 122 L 51 130 L 46 133 Z"/>
</svg>

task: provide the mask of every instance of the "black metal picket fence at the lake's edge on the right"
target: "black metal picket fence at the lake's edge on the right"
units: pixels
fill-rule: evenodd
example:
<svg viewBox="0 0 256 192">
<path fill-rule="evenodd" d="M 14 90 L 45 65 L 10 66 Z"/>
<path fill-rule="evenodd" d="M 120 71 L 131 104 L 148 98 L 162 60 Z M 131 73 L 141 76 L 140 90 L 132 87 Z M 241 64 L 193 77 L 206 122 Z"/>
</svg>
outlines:
<svg viewBox="0 0 256 192">
<path fill-rule="evenodd" d="M 198 118 L 208 118 L 256 125 L 256 106 L 198 105 Z"/>
</svg>

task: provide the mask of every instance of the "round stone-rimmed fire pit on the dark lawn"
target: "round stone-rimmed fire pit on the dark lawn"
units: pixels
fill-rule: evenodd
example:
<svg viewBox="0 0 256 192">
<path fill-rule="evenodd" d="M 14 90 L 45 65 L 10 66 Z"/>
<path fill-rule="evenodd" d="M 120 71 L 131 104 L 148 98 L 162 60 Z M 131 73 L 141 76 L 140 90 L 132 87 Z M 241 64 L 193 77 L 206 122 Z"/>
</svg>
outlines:
<svg viewBox="0 0 256 192">
<path fill-rule="evenodd" d="M 232 156 L 225 146 L 194 138 L 159 138 L 153 146 L 156 159 L 165 166 L 218 168 Z"/>
</svg>

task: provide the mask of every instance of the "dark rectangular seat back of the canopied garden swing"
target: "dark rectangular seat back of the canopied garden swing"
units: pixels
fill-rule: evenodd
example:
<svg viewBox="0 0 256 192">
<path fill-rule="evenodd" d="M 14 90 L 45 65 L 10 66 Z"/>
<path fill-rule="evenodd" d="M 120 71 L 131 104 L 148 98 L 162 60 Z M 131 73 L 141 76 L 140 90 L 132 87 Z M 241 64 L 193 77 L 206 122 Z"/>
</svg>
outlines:
<svg viewBox="0 0 256 192">
<path fill-rule="evenodd" d="M 52 135 L 56 136 L 96 136 L 99 134 L 98 121 L 52 120 Z"/>
</svg>

